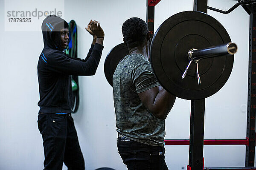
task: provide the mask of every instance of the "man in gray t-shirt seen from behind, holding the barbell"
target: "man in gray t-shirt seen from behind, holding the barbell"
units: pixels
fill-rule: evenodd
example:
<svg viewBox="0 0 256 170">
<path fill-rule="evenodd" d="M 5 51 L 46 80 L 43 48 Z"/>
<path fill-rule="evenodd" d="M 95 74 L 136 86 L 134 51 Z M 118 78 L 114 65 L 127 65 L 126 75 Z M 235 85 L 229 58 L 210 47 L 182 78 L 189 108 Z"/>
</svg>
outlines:
<svg viewBox="0 0 256 170">
<path fill-rule="evenodd" d="M 128 170 L 168 170 L 164 161 L 164 119 L 175 96 L 165 91 L 148 61 L 150 32 L 140 18 L 122 26 L 129 54 L 113 75 L 117 147 Z"/>
</svg>

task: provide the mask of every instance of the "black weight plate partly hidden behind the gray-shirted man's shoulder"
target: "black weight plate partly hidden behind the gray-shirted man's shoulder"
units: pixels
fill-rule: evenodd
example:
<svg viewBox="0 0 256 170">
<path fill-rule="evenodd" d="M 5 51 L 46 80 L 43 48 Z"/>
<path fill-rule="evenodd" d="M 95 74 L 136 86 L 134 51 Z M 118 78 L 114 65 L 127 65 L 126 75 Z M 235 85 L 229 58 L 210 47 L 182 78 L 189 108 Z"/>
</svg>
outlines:
<svg viewBox="0 0 256 170">
<path fill-rule="evenodd" d="M 113 87 L 113 75 L 116 71 L 116 67 L 118 63 L 128 55 L 129 51 L 125 43 L 121 43 L 116 45 L 112 50 L 108 53 L 105 63 L 104 63 L 104 72 L 105 77 L 108 80 L 108 83 Z"/>
</svg>

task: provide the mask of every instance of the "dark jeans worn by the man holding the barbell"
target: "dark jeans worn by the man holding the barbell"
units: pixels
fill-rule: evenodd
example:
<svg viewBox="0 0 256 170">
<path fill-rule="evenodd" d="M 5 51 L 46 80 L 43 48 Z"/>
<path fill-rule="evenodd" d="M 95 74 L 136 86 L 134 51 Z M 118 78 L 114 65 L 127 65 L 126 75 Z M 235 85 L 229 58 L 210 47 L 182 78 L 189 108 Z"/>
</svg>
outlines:
<svg viewBox="0 0 256 170">
<path fill-rule="evenodd" d="M 118 137 L 117 148 L 128 170 L 168 170 L 164 160 L 164 147 L 150 146 Z"/>
</svg>

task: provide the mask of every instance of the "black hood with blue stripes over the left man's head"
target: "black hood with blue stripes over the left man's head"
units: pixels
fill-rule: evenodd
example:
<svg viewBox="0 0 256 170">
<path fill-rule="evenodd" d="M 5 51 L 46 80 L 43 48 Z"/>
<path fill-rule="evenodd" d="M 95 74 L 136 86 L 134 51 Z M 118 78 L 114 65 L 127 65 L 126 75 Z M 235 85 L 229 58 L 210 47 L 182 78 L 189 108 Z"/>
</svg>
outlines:
<svg viewBox="0 0 256 170">
<path fill-rule="evenodd" d="M 42 32 L 44 38 L 44 47 L 58 49 L 62 51 L 60 30 L 68 28 L 68 23 L 61 17 L 56 15 L 49 15 L 42 23 Z M 56 40 L 57 39 L 57 40 Z"/>
</svg>

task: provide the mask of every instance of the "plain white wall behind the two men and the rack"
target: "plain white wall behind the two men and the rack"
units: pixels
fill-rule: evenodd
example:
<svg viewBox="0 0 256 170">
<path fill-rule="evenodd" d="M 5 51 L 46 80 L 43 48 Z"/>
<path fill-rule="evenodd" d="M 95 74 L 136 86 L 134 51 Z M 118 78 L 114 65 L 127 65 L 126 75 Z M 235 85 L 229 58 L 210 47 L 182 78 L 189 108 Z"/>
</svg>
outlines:
<svg viewBox="0 0 256 170">
<path fill-rule="evenodd" d="M 92 40 L 84 29 L 90 19 L 99 20 L 105 31 L 99 68 L 93 77 L 79 77 L 80 107 L 78 113 L 73 114 L 87 170 L 126 169 L 117 153 L 113 94 L 103 66 L 108 52 L 122 42 L 122 23 L 130 17 L 146 19 L 145 1 L 64 0 L 64 19 L 73 19 L 78 25 L 80 57 L 87 55 Z M 234 3 L 209 0 L 208 4 L 227 10 Z M 30 3 L 25 0 L 23 5 Z M 168 17 L 187 10 L 193 10 L 192 0 L 162 0 L 155 7 L 155 31 Z M 241 7 L 231 14 L 214 11 L 208 14 L 223 24 L 239 51 L 226 85 L 206 99 L 204 136 L 205 139 L 244 139 L 249 15 Z M 5 31 L 4 15 L 4 0 L 0 0 L 0 170 L 39 170 L 43 169 L 44 155 L 36 122 L 39 109 L 36 66 L 43 48 L 42 34 Z M 166 119 L 166 139 L 189 139 L 189 109 L 189 100 L 176 100 Z M 166 146 L 166 163 L 170 170 L 186 169 L 188 149 L 189 146 Z M 205 146 L 204 158 L 206 167 L 244 166 L 245 147 Z"/>
</svg>

